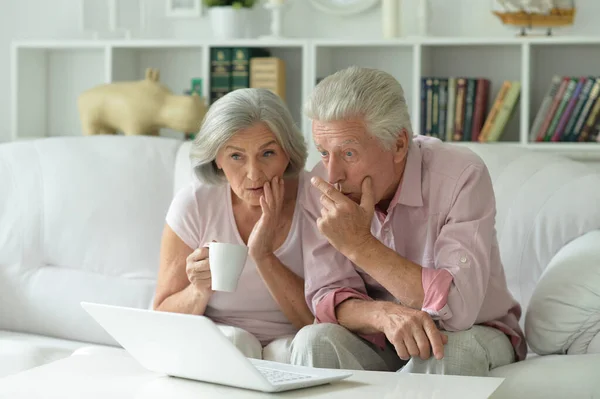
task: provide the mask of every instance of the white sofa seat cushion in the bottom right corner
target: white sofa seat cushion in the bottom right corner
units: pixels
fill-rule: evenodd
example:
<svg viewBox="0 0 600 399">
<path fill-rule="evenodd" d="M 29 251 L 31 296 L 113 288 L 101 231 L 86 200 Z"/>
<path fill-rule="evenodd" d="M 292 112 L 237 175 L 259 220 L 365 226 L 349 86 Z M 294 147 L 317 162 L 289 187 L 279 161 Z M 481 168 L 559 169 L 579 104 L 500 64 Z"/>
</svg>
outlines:
<svg viewBox="0 0 600 399">
<path fill-rule="evenodd" d="M 599 364 L 600 354 L 548 355 L 498 367 L 490 376 L 505 380 L 490 398 L 595 398 Z"/>
</svg>

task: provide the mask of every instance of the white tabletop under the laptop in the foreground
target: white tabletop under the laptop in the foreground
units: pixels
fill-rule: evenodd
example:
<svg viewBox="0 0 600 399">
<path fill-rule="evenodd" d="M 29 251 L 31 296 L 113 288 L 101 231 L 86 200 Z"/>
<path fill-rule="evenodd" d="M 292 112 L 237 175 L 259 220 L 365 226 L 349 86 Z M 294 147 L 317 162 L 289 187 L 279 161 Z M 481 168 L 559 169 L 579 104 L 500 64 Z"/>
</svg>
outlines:
<svg viewBox="0 0 600 399">
<path fill-rule="evenodd" d="M 0 379 L 0 398 L 487 398 L 503 378 L 354 371 L 349 379 L 279 394 L 147 371 L 127 352 L 74 355 Z"/>
</svg>

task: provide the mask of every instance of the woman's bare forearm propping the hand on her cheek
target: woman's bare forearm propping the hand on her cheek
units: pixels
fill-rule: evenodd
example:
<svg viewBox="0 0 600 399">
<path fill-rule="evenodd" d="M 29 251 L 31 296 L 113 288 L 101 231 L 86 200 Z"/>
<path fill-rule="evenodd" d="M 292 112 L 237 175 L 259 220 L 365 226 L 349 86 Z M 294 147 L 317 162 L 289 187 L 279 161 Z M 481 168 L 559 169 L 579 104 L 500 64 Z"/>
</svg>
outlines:
<svg viewBox="0 0 600 399">
<path fill-rule="evenodd" d="M 312 324 L 314 316 L 306 304 L 304 280 L 273 254 L 256 260 L 258 273 L 288 320 L 298 329 Z"/>
</svg>

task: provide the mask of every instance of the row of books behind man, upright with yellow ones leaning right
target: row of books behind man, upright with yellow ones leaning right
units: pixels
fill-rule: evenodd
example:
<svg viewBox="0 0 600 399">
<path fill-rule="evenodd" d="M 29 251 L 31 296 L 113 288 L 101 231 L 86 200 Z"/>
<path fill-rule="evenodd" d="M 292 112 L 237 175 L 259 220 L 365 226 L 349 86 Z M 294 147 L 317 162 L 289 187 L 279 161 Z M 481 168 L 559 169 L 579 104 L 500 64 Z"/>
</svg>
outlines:
<svg viewBox="0 0 600 399">
<path fill-rule="evenodd" d="M 503 82 L 488 112 L 490 87 L 486 78 L 422 78 L 422 134 L 444 141 L 497 141 L 516 108 L 521 83 Z"/>
</svg>

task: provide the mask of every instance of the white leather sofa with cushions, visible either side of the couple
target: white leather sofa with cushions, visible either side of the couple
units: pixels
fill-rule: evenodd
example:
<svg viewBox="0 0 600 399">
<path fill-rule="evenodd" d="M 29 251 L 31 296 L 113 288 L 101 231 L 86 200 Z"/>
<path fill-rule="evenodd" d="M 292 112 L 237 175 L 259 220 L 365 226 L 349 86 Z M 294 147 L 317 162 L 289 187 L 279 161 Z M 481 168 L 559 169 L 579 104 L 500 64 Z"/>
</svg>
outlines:
<svg viewBox="0 0 600 399">
<path fill-rule="evenodd" d="M 600 395 L 600 175 L 472 148 L 494 181 L 502 259 L 532 349 L 494 371 L 507 377 L 495 397 Z M 188 151 L 156 137 L 0 145 L 0 377 L 118 346 L 79 303 L 150 306 L 164 216 L 192 178 Z"/>
</svg>

